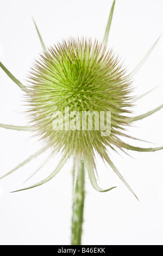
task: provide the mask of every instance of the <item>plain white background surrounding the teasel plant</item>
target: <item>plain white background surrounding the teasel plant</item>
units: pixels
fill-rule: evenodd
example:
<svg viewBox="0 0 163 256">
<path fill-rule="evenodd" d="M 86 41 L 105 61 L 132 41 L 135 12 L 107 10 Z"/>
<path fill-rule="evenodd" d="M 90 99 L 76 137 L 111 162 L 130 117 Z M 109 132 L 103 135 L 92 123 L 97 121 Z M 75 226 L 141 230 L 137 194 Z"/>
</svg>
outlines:
<svg viewBox="0 0 163 256">
<path fill-rule="evenodd" d="M 109 0 L 1 0 L 0 61 L 22 82 L 41 52 L 32 21 L 50 46 L 68 36 L 103 39 L 112 1 Z M 117 0 L 109 46 L 120 53 L 129 70 L 139 63 L 163 31 L 162 0 Z M 162 103 L 163 38 L 135 76 L 135 94 L 155 86 L 151 94 L 137 101 L 135 115 Z M 26 125 L 21 90 L 0 70 L 0 123 Z M 138 147 L 163 144 L 162 110 L 137 121 L 128 134 L 155 144 L 127 141 Z M 40 148 L 28 132 L 0 130 L 0 176 Z M 98 161 L 101 187 L 117 186 L 98 193 L 86 176 L 83 245 L 162 245 L 163 168 L 162 151 L 112 154 L 112 161 L 135 191 L 140 202 L 116 174 Z M 72 206 L 72 163 L 47 184 L 33 190 L 9 193 L 45 178 L 57 165 L 55 157 L 26 184 L 23 182 L 45 159 L 41 155 L 0 181 L 1 245 L 69 245 Z"/>
</svg>

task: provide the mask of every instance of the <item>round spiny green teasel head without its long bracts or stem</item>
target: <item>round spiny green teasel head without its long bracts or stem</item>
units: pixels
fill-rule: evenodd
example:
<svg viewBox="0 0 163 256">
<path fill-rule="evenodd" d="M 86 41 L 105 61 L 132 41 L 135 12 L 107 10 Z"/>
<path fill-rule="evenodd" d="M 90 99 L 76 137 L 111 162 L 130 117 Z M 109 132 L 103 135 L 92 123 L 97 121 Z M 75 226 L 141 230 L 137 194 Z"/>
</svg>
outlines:
<svg viewBox="0 0 163 256">
<path fill-rule="evenodd" d="M 97 40 L 64 40 L 40 56 L 31 74 L 27 86 L 30 120 L 49 147 L 83 157 L 93 157 L 95 151 L 103 156 L 106 146 L 118 147 L 118 136 L 129 124 L 131 82 L 112 50 Z M 78 127 L 66 130 L 58 123 L 58 130 L 54 129 L 53 122 L 68 108 L 70 113 L 79 113 Z M 82 130 L 82 114 L 89 111 L 94 113 L 93 128 Z M 103 127 L 95 127 L 101 112 L 99 123 L 103 119 L 105 126 L 106 112 L 111 112 L 109 136 L 102 136 Z M 76 115 L 70 119 L 69 125 L 77 123 Z"/>
</svg>

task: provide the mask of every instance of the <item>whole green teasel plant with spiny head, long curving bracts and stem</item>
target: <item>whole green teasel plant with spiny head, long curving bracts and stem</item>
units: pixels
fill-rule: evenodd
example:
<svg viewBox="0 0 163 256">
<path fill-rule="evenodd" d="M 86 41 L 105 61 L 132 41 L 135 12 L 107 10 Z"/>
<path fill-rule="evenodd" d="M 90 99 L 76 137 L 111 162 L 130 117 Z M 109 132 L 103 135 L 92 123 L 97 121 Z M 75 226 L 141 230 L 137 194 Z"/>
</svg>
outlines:
<svg viewBox="0 0 163 256">
<path fill-rule="evenodd" d="M 14 169 L 3 175 L 1 179 L 50 149 L 51 153 L 36 169 L 36 173 L 59 153 L 61 155 L 59 164 L 46 179 L 13 192 L 29 190 L 54 178 L 68 159 L 73 159 L 71 245 L 81 245 L 82 243 L 85 173 L 87 172 L 92 187 L 98 192 L 108 192 L 116 188 L 115 186 L 109 188 L 99 186 L 96 155 L 101 157 L 137 198 L 116 168 L 114 160 L 111 159 L 110 151 L 116 152 L 118 149 L 129 154 L 129 150 L 152 152 L 163 149 L 162 146 L 157 148 L 134 147 L 134 145 L 127 144 L 122 139 L 130 138 L 139 141 L 134 136 L 131 137 L 127 134 L 127 127 L 133 125 L 137 120 L 149 117 L 163 107 L 162 104 L 152 111 L 133 116 L 135 101 L 145 96 L 136 97 L 134 95 L 134 76 L 145 63 L 160 37 L 136 68 L 132 72 L 128 72 L 118 54 L 108 44 L 115 2 L 112 3 L 103 41 L 92 40 L 84 36 L 83 38 L 71 37 L 47 48 L 34 21 L 43 51 L 39 58 L 34 61 L 26 85 L 17 80 L 0 62 L 4 72 L 23 91 L 23 101 L 28 108 L 26 112 L 27 126 L 0 124 L 0 127 L 22 132 L 29 131 L 44 144 L 44 147 L 28 159 L 23 160 Z M 71 125 L 73 129 L 70 130 L 67 127 L 63 129 L 62 123 L 59 121 L 57 129 L 54 129 L 54 121 L 57 117 L 60 118 L 65 114 L 67 107 L 70 112 L 78 112 L 79 118 L 81 118 L 83 112 L 95 113 L 92 119 L 93 129 L 82 130 L 81 124 L 77 127 L 77 116 L 75 114 L 68 123 L 68 128 Z M 103 127 L 95 129 L 96 115 L 98 117 L 97 113 L 100 112 L 111 113 L 109 136 L 103 136 Z M 54 113 L 58 114 L 54 116 Z M 106 125 L 106 114 L 103 114 L 101 119 L 104 120 Z M 86 124 L 89 126 L 89 120 L 86 121 Z M 32 176 L 29 178 L 32 178 Z"/>
</svg>

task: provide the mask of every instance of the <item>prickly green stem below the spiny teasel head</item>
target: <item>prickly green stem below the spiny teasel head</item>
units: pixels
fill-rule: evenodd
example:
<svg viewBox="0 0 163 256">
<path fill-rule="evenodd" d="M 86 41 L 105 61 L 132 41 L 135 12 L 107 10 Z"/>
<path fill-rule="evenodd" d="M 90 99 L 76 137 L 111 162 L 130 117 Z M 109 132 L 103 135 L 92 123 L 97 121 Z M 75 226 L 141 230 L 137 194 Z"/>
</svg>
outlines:
<svg viewBox="0 0 163 256">
<path fill-rule="evenodd" d="M 74 182 L 74 170 L 73 170 Z M 81 245 L 82 241 L 82 226 L 83 226 L 83 212 L 85 199 L 85 170 L 84 162 L 79 163 L 76 188 L 73 196 L 72 206 L 72 227 L 71 227 L 71 245 Z"/>
</svg>

